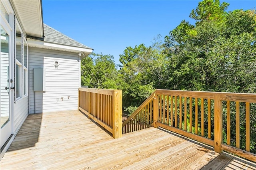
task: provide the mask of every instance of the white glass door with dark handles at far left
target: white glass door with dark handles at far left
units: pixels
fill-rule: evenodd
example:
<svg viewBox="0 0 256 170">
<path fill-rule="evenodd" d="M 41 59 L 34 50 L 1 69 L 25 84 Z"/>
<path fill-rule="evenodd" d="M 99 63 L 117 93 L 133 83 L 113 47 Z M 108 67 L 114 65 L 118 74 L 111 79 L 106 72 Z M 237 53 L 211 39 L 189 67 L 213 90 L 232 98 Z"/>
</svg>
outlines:
<svg viewBox="0 0 256 170">
<path fill-rule="evenodd" d="M 12 65 L 10 60 L 10 29 L 1 23 L 1 56 L 0 56 L 0 145 L 1 147 L 6 143 L 8 138 L 12 134 L 12 116 L 11 108 L 13 103 L 11 96 L 14 93 L 13 87 L 14 82 L 10 79 L 12 73 Z"/>
</svg>

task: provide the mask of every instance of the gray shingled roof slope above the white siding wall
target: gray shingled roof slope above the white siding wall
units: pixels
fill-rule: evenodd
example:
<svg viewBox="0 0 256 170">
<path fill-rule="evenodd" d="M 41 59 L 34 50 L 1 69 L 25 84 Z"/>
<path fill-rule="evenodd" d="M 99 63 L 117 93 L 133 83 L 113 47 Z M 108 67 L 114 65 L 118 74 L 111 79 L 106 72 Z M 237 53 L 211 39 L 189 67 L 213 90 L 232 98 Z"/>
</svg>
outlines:
<svg viewBox="0 0 256 170">
<path fill-rule="evenodd" d="M 92 49 L 82 43 L 77 42 L 76 40 L 73 40 L 72 38 L 69 38 L 68 36 L 58 32 L 46 24 L 44 24 L 44 42 Z"/>
</svg>

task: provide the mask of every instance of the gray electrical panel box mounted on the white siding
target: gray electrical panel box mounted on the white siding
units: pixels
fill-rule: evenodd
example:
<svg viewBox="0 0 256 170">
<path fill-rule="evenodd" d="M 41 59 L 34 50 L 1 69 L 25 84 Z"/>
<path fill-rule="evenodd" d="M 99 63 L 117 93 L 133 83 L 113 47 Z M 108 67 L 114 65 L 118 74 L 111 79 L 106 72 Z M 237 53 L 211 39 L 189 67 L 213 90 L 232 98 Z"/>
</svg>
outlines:
<svg viewBox="0 0 256 170">
<path fill-rule="evenodd" d="M 34 91 L 45 91 L 45 69 L 34 68 Z"/>
</svg>

